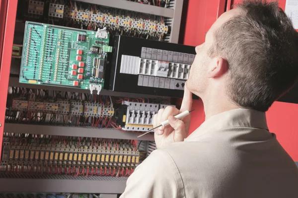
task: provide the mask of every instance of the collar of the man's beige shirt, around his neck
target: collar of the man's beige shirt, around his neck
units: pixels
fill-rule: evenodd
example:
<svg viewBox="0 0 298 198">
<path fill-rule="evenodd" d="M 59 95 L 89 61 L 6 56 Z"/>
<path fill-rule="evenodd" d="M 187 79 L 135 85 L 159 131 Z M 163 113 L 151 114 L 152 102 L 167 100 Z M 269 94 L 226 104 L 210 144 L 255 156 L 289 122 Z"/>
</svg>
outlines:
<svg viewBox="0 0 298 198">
<path fill-rule="evenodd" d="M 190 134 L 185 141 L 190 141 L 195 137 L 209 132 L 232 127 L 259 128 L 268 131 L 266 114 L 265 112 L 248 108 L 237 108 L 224 111 L 206 120 L 198 129 Z"/>
</svg>

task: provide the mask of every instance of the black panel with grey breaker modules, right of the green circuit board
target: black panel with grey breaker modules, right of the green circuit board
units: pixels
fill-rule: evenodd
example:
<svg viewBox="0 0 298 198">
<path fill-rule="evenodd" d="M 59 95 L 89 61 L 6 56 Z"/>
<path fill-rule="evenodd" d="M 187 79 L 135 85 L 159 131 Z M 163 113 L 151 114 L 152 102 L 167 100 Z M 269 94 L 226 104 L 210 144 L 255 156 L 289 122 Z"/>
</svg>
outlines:
<svg viewBox="0 0 298 198">
<path fill-rule="evenodd" d="M 195 47 L 115 36 L 110 79 L 112 91 L 183 97 Z M 125 83 L 123 83 L 125 82 Z"/>
</svg>

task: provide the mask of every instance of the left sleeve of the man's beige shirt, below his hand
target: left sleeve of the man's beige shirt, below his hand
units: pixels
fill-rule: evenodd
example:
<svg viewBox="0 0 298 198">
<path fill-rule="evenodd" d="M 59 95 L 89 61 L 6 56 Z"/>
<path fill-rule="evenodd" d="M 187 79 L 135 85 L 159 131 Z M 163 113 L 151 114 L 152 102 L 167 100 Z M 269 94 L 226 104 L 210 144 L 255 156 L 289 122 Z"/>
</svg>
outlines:
<svg viewBox="0 0 298 198">
<path fill-rule="evenodd" d="M 136 168 L 128 178 L 120 198 L 178 198 L 170 155 L 157 149 Z"/>
</svg>

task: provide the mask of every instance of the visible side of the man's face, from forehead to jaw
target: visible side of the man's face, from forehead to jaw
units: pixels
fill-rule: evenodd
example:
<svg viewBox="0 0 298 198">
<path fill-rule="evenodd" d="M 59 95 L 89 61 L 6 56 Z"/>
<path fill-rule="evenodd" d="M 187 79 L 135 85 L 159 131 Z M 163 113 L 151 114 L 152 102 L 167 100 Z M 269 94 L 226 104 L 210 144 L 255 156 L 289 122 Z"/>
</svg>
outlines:
<svg viewBox="0 0 298 198">
<path fill-rule="evenodd" d="M 206 90 L 210 88 L 210 79 L 208 72 L 217 64 L 217 57 L 210 57 L 209 50 L 214 44 L 214 33 L 231 17 L 238 15 L 240 10 L 238 8 L 224 12 L 218 20 L 211 26 L 206 33 L 205 42 L 196 47 L 196 57 L 190 68 L 189 78 L 187 80 L 187 88 L 199 97 L 202 97 Z"/>
</svg>

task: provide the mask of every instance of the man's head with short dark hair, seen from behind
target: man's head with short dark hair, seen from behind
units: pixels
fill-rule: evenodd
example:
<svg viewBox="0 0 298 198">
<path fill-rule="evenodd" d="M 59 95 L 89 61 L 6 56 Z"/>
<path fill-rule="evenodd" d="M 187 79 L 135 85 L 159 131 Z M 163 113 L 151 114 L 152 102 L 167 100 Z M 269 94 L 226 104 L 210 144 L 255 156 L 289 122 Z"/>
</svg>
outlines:
<svg viewBox="0 0 298 198">
<path fill-rule="evenodd" d="M 187 87 L 203 99 L 221 87 L 236 105 L 267 111 L 298 79 L 298 33 L 277 2 L 225 12 L 196 52 Z"/>
</svg>

